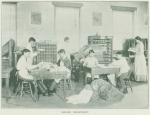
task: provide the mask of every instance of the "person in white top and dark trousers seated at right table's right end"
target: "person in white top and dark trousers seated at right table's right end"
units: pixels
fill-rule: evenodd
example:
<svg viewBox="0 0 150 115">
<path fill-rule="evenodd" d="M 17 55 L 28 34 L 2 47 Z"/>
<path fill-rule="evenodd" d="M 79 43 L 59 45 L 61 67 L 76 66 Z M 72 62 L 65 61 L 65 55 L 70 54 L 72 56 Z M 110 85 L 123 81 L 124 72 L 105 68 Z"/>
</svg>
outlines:
<svg viewBox="0 0 150 115">
<path fill-rule="evenodd" d="M 128 72 L 130 70 L 130 67 L 126 58 L 122 56 L 121 51 L 118 51 L 116 53 L 116 58 L 117 60 L 112 63 L 112 65 L 118 66 L 120 68 L 116 85 L 120 89 L 120 91 L 122 91 L 123 93 L 127 93 L 124 78 L 128 78 Z"/>
</svg>

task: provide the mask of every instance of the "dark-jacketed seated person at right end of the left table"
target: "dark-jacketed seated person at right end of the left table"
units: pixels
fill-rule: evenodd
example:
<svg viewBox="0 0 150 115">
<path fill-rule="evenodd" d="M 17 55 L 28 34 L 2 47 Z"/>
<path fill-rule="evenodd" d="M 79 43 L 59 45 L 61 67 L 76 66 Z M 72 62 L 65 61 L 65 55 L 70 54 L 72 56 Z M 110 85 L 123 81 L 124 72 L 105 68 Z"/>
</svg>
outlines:
<svg viewBox="0 0 150 115">
<path fill-rule="evenodd" d="M 71 61 L 70 59 L 66 56 L 65 54 L 65 50 L 64 49 L 60 49 L 58 51 L 58 54 L 60 56 L 57 65 L 60 66 L 62 68 L 62 70 L 68 71 L 67 74 L 67 78 L 69 79 L 71 77 Z M 50 93 L 54 93 L 56 91 L 56 87 L 57 87 L 57 83 L 59 83 L 61 79 L 54 79 L 50 88 L 49 88 L 49 92 Z M 49 86 L 48 86 L 49 87 Z"/>
</svg>

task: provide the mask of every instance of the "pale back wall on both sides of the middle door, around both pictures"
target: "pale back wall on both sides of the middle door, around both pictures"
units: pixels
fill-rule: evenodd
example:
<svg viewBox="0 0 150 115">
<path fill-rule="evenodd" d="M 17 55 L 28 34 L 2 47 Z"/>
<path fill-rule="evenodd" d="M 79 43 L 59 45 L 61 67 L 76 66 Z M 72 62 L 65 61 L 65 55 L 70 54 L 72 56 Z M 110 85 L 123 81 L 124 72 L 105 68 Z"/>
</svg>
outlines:
<svg viewBox="0 0 150 115">
<path fill-rule="evenodd" d="M 137 7 L 135 13 L 134 35 L 148 37 L 148 25 L 144 17 L 148 15 L 147 2 L 82 2 L 80 8 L 80 47 L 87 44 L 90 35 L 113 36 L 113 14 L 111 5 Z M 54 35 L 54 6 L 51 2 L 19 2 L 17 4 L 17 40 L 18 45 L 25 46 L 30 36 L 38 40 L 56 41 Z M 32 11 L 42 13 L 42 24 L 30 24 Z M 93 26 L 92 13 L 102 13 L 102 25 Z"/>
</svg>

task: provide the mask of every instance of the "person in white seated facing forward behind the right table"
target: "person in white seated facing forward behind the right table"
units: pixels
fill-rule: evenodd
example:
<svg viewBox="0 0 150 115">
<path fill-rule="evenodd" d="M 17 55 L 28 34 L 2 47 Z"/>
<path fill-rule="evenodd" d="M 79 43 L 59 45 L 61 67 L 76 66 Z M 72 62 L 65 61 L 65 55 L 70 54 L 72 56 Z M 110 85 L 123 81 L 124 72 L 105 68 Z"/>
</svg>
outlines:
<svg viewBox="0 0 150 115">
<path fill-rule="evenodd" d="M 89 55 L 85 58 L 83 66 L 86 67 L 86 78 L 91 79 L 91 68 L 98 66 L 98 60 L 94 57 L 94 50 L 89 51 Z M 99 78 L 98 75 L 95 75 L 94 78 Z"/>
</svg>

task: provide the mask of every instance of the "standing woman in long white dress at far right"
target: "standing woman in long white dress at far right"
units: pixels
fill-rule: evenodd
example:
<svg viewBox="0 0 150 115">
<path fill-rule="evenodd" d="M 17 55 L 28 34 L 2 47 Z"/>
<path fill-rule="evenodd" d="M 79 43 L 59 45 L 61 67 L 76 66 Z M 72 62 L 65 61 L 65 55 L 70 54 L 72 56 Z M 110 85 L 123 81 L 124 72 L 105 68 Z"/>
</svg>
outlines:
<svg viewBox="0 0 150 115">
<path fill-rule="evenodd" d="M 142 39 L 137 36 L 135 37 L 135 80 L 136 81 L 147 81 L 147 66 L 146 59 L 144 56 L 144 45 Z"/>
</svg>

